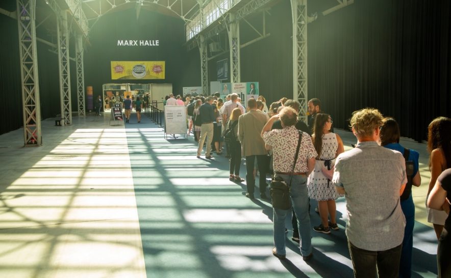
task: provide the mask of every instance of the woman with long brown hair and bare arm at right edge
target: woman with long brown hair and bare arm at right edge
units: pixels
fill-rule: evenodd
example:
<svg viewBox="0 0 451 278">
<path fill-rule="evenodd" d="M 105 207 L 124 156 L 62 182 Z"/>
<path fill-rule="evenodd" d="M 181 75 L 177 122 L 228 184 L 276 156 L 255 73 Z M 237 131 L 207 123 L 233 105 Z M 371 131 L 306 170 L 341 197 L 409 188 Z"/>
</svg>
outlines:
<svg viewBox="0 0 451 278">
<path fill-rule="evenodd" d="M 429 181 L 428 196 L 434 187 L 437 177 L 445 169 L 451 168 L 451 119 L 438 117 L 434 119 L 428 127 L 428 152 L 429 170 L 431 179 Z M 426 198 L 428 199 L 428 198 Z M 443 205 L 447 205 L 444 203 Z M 443 230 L 443 225 L 448 215 L 443 211 L 426 207 L 428 212 L 428 222 L 434 225 L 437 239 Z"/>
</svg>

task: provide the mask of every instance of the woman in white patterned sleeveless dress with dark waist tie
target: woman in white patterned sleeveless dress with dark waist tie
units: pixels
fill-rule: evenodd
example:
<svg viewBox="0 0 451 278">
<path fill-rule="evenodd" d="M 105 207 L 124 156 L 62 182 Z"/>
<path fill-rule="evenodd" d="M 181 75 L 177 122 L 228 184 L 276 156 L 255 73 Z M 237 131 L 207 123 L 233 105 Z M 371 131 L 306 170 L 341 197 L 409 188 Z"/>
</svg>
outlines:
<svg viewBox="0 0 451 278">
<path fill-rule="evenodd" d="M 344 152 L 343 141 L 338 134 L 330 132 L 332 119 L 329 114 L 317 113 L 312 135 L 313 145 L 319 154 L 316 157 L 315 169 L 310 174 L 308 189 L 310 199 L 318 201 L 321 224 L 314 226 L 318 233 L 330 234 L 331 228 L 338 230 L 336 221 L 335 200 L 340 197 L 331 180 L 324 176 L 322 169 L 331 169 L 335 158 Z M 331 221 L 328 221 L 328 216 Z"/>
</svg>

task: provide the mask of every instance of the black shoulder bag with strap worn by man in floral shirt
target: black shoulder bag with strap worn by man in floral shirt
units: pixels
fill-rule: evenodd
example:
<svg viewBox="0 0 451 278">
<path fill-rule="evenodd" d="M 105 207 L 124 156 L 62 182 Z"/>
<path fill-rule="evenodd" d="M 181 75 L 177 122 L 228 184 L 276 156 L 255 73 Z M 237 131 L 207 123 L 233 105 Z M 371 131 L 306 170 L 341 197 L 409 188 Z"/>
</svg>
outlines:
<svg viewBox="0 0 451 278">
<path fill-rule="evenodd" d="M 299 139 L 297 141 L 296 154 L 294 155 L 294 164 L 291 174 L 294 173 L 294 167 L 296 166 L 301 138 L 302 131 L 299 131 Z M 287 184 L 282 177 L 274 174 L 274 177 L 269 184 L 269 194 L 271 195 L 272 207 L 279 208 L 280 210 L 289 210 L 291 208 L 290 187 L 292 179 L 293 175 L 291 175 L 290 184 Z"/>
</svg>

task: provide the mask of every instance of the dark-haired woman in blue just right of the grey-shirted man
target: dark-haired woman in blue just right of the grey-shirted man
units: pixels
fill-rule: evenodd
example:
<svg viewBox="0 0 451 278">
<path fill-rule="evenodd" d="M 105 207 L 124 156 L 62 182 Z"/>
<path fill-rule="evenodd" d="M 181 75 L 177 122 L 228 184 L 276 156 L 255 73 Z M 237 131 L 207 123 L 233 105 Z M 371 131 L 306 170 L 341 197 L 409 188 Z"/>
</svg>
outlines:
<svg viewBox="0 0 451 278">
<path fill-rule="evenodd" d="M 399 144 L 400 132 L 398 123 L 393 118 L 385 118 L 379 134 L 381 146 L 398 151 L 407 156 L 409 161 L 413 161 L 413 171 L 408 179 L 403 195 L 400 196 L 401 209 L 406 217 L 406 227 L 404 228 L 403 247 L 401 249 L 401 261 L 399 263 L 399 277 L 410 277 L 412 275 L 412 248 L 413 248 L 413 226 L 415 223 L 415 204 L 412 199 L 412 186 L 419 187 L 421 176 L 418 164 L 420 154 L 415 150 L 406 151 L 406 148 Z M 405 157 L 406 157 L 405 156 Z"/>
</svg>

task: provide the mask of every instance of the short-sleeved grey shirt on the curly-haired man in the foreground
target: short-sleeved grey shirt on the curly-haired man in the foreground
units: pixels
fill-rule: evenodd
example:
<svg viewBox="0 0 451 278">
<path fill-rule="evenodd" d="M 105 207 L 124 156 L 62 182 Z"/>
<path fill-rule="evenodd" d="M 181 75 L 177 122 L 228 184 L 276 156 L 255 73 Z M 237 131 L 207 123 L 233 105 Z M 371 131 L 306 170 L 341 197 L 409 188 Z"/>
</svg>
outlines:
<svg viewBox="0 0 451 278">
<path fill-rule="evenodd" d="M 399 190 L 407 182 L 404 157 L 374 141 L 338 155 L 332 182 L 344 188 L 346 236 L 356 247 L 383 251 L 403 243 Z"/>
</svg>

